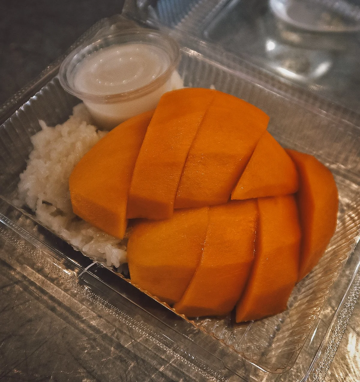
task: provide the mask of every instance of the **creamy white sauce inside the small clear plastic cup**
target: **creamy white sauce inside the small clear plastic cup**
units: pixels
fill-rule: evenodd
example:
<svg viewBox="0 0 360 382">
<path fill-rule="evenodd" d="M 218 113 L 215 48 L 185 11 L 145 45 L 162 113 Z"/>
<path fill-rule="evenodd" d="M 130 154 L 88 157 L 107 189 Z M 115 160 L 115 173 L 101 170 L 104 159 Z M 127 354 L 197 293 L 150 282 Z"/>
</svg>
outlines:
<svg viewBox="0 0 360 382">
<path fill-rule="evenodd" d="M 153 45 L 132 43 L 98 50 L 78 64 L 75 89 L 93 95 L 112 95 L 136 90 L 151 83 L 170 66 L 170 57 Z M 111 129 L 124 120 L 156 107 L 163 93 L 171 90 L 171 76 L 150 94 L 126 101 L 86 104 L 95 123 Z"/>
</svg>

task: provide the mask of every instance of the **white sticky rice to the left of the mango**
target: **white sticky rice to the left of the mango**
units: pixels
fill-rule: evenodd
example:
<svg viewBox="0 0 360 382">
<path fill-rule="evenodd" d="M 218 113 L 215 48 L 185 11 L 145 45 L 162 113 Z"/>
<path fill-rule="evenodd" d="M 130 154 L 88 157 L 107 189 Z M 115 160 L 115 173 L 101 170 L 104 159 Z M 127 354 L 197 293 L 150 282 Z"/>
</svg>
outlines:
<svg viewBox="0 0 360 382">
<path fill-rule="evenodd" d="M 48 127 L 32 136 L 34 146 L 26 170 L 20 175 L 17 204 L 30 207 L 37 219 L 97 261 L 118 268 L 126 262 L 124 242 L 107 235 L 82 219 L 71 208 L 69 176 L 81 157 L 106 133 L 90 124 L 83 104 L 62 125 Z"/>
</svg>

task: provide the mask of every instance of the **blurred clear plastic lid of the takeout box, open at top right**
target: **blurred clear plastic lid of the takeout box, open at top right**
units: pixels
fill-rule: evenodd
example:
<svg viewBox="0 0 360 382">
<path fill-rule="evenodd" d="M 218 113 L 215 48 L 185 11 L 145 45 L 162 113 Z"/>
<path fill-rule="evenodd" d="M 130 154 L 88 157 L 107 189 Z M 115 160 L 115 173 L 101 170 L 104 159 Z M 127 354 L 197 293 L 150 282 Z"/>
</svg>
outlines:
<svg viewBox="0 0 360 382">
<path fill-rule="evenodd" d="M 352 110 L 360 106 L 360 8 L 356 2 L 198 0 L 180 7 L 181 17 L 176 12 L 177 0 L 159 1 L 156 6 L 144 3 L 148 8 L 143 6 L 142 11 L 147 9 L 146 17 L 152 23 L 190 32 L 216 49 L 271 71 L 284 82 Z M 134 13 L 129 5 L 128 9 Z M 309 15 L 314 18 L 313 28 L 311 20 L 300 22 Z"/>
</svg>

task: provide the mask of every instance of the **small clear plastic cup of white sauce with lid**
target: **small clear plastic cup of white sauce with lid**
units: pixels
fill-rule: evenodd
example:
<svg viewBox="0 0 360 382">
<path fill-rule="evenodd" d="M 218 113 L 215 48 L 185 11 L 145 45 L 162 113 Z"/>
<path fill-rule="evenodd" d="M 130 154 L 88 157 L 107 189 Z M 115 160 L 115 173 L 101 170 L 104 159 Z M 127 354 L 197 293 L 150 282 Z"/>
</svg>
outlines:
<svg viewBox="0 0 360 382">
<path fill-rule="evenodd" d="M 118 51 L 126 55 L 116 56 Z M 178 61 L 179 46 L 170 37 L 150 29 L 126 29 L 77 47 L 61 64 L 59 79 L 84 102 L 94 123 L 110 130 L 156 107 L 161 95 L 173 88 Z"/>
</svg>

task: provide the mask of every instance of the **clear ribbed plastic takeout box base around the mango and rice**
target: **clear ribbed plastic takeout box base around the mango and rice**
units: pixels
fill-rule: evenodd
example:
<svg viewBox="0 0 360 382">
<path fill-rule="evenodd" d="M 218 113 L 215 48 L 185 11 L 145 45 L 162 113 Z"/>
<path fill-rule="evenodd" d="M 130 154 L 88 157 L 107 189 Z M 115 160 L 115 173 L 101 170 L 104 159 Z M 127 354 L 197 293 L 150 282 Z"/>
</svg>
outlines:
<svg viewBox="0 0 360 382">
<path fill-rule="evenodd" d="M 141 19 L 141 10 L 134 9 L 128 6 L 128 17 Z M 102 28 L 128 24 L 123 17 L 101 21 L 79 43 Z M 168 32 L 181 47 L 177 70 L 185 86 L 215 87 L 256 105 L 270 115 L 268 129 L 281 144 L 315 155 L 334 174 L 336 233 L 320 263 L 295 287 L 287 311 L 245 324 L 231 317 L 189 321 L 13 206 L 39 120 L 62 123 L 79 102 L 60 86 L 61 60 L 2 109 L 5 117 L 20 104 L 0 128 L 0 239 L 7 249 L 1 259 L 42 285 L 49 301 L 61 301 L 66 312 L 61 317 L 69 325 L 98 333 L 100 348 L 119 352 L 123 347 L 153 365 L 142 380 L 323 380 L 360 291 L 360 115 L 279 81 L 236 55 L 219 53 L 183 30 Z M 108 377 L 116 372 L 109 368 Z"/>
</svg>

